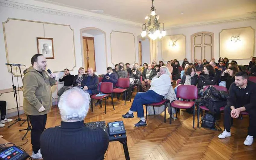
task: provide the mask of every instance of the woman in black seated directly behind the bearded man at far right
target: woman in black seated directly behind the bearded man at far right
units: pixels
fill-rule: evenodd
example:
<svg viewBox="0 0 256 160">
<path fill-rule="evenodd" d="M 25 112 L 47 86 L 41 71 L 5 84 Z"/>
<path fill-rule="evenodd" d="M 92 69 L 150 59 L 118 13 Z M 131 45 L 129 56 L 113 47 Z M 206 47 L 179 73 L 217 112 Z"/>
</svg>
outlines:
<svg viewBox="0 0 256 160">
<path fill-rule="evenodd" d="M 221 81 L 226 82 L 226 88 L 229 90 L 230 85 L 235 82 L 235 74 L 238 72 L 236 67 L 229 67 L 227 70 L 222 72 Z"/>
</svg>

